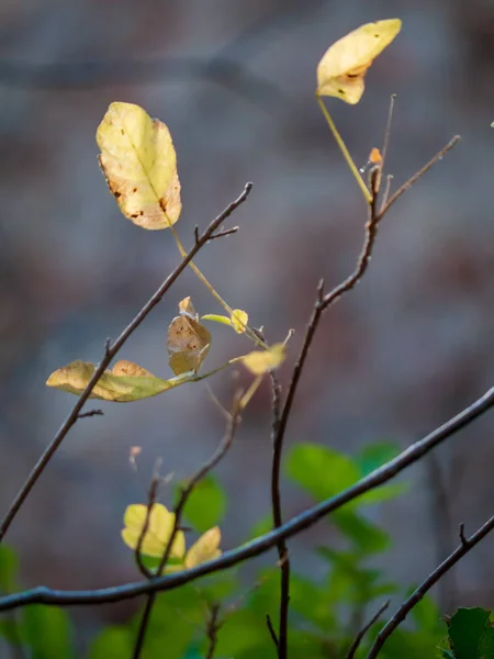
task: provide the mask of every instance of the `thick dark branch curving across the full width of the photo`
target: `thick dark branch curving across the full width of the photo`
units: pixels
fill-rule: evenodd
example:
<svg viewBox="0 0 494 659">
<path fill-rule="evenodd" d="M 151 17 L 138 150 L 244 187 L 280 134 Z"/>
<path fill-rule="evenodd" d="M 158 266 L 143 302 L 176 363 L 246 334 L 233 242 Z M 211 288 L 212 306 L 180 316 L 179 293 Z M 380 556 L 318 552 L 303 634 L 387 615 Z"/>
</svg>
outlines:
<svg viewBox="0 0 494 659">
<path fill-rule="evenodd" d="M 194 568 L 182 572 L 155 577 L 150 581 L 139 581 L 136 583 L 126 583 L 124 585 L 97 590 L 63 591 L 46 587 L 37 587 L 13 595 L 0 597 L 0 611 L 9 611 L 20 606 L 26 606 L 27 604 L 50 604 L 57 606 L 110 604 L 153 592 L 173 590 L 184 583 L 191 583 L 200 577 L 213 574 L 233 566 L 237 566 L 245 560 L 269 551 L 277 546 L 280 538 L 288 539 L 300 534 L 306 528 L 314 526 L 319 520 L 326 518 L 329 513 L 339 510 L 341 506 L 358 499 L 366 492 L 383 485 L 397 473 L 401 473 L 404 469 L 424 458 L 424 456 L 442 444 L 446 439 L 465 426 L 469 426 L 475 418 L 482 416 L 493 406 L 494 387 L 487 390 L 484 395 L 474 403 L 457 414 L 457 416 L 450 418 L 423 439 L 412 444 L 412 446 L 406 448 L 393 460 L 385 462 L 379 467 L 379 469 L 374 469 L 374 471 L 357 481 L 350 488 L 347 488 L 335 496 L 292 517 L 289 522 L 285 522 L 280 526 L 280 528 L 274 528 L 236 549 L 225 551 L 221 557 L 209 561 L 207 563 L 195 566 Z M 492 524 L 494 526 L 494 518 L 492 520 Z M 471 540 L 472 538 L 470 538 L 470 541 Z"/>
</svg>

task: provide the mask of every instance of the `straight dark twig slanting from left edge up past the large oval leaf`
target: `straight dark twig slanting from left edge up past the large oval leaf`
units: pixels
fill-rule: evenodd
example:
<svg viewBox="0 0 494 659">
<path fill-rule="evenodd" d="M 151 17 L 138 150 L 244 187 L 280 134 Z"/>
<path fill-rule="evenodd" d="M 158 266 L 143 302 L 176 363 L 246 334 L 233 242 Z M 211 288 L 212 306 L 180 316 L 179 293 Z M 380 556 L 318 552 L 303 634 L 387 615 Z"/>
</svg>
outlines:
<svg viewBox="0 0 494 659">
<path fill-rule="evenodd" d="M 206 227 L 204 233 L 202 234 L 199 243 L 195 243 L 190 252 L 182 258 L 180 264 L 175 268 L 175 270 L 166 278 L 166 280 L 161 283 L 158 290 L 149 298 L 146 304 L 141 309 L 141 311 L 135 315 L 135 317 L 131 321 L 131 323 L 125 327 L 122 334 L 113 342 L 106 342 L 104 356 L 98 367 L 96 368 L 92 378 L 89 380 L 88 386 L 80 394 L 69 415 L 61 424 L 58 433 L 52 439 L 33 470 L 31 471 L 27 479 L 24 481 L 21 487 L 19 493 L 16 494 L 14 501 L 12 502 L 9 511 L 7 512 L 2 523 L 0 524 L 0 543 L 3 539 L 7 530 L 9 529 L 12 521 L 24 503 L 25 499 L 30 494 L 34 484 L 36 483 L 40 476 L 43 473 L 45 467 L 60 446 L 67 433 L 70 431 L 72 425 L 76 423 L 79 412 L 81 411 L 83 404 L 91 395 L 94 386 L 98 380 L 103 375 L 106 367 L 110 365 L 110 361 L 115 357 L 117 351 L 125 344 L 127 338 L 135 332 L 135 330 L 141 325 L 141 323 L 147 317 L 150 311 L 162 300 L 165 293 L 171 288 L 171 286 L 177 281 L 178 277 L 183 272 L 187 266 L 191 263 L 197 253 L 207 243 L 211 236 L 214 234 L 216 228 L 237 209 L 248 197 L 250 190 L 252 188 L 251 183 L 247 183 L 244 192 L 233 201 L 226 209 L 213 220 L 210 225 Z"/>
</svg>

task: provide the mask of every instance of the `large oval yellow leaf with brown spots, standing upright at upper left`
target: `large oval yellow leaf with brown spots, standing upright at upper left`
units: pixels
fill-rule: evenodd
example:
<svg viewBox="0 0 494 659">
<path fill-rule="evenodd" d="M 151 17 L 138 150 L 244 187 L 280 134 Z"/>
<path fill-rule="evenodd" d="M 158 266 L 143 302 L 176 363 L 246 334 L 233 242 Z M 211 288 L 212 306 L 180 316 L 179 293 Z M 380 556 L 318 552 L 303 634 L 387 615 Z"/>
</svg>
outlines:
<svg viewBox="0 0 494 659">
<path fill-rule="evenodd" d="M 144 228 L 180 216 L 177 156 L 168 127 L 132 103 L 112 103 L 97 131 L 100 166 L 120 210 Z"/>
</svg>

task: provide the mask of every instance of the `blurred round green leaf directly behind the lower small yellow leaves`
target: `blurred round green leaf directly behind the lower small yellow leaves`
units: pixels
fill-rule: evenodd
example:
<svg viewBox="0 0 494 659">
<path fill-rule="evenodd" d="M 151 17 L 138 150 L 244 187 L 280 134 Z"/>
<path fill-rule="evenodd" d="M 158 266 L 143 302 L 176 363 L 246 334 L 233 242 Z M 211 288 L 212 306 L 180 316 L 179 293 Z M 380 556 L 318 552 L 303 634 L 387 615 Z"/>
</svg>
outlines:
<svg viewBox="0 0 494 659">
<path fill-rule="evenodd" d="M 199 533 L 218 525 L 225 515 L 226 498 L 213 476 L 207 476 L 192 490 L 187 500 L 184 517 Z"/>
</svg>

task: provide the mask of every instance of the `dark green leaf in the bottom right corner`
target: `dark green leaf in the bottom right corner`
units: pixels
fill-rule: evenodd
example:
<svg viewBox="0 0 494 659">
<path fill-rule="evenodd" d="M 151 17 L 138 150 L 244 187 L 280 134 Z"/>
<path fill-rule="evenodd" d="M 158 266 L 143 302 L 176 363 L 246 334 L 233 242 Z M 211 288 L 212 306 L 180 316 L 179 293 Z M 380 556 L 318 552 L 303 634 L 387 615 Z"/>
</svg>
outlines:
<svg viewBox="0 0 494 659">
<path fill-rule="evenodd" d="M 492 659 L 494 628 L 485 608 L 459 608 L 451 616 L 449 638 L 456 659 Z"/>
</svg>

